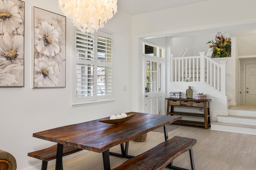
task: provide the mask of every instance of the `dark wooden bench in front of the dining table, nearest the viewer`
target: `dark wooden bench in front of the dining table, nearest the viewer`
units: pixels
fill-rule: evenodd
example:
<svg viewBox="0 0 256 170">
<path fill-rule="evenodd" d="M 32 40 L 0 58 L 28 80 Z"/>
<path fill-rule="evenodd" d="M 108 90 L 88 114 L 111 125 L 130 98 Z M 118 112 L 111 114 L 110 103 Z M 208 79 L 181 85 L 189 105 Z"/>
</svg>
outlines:
<svg viewBox="0 0 256 170">
<path fill-rule="evenodd" d="M 124 162 L 123 164 L 115 167 L 112 170 L 121 169 L 163 169 L 168 167 L 170 169 L 184 169 L 175 167 L 172 165 L 172 161 L 189 151 L 191 160 L 191 169 L 195 170 L 195 164 L 193 162 L 193 152 L 192 147 L 196 144 L 196 139 L 184 138 L 184 137 L 174 137 L 166 142 L 162 142 L 159 145 L 151 148 L 150 150 L 144 152 L 141 155 L 135 156 Z"/>
</svg>

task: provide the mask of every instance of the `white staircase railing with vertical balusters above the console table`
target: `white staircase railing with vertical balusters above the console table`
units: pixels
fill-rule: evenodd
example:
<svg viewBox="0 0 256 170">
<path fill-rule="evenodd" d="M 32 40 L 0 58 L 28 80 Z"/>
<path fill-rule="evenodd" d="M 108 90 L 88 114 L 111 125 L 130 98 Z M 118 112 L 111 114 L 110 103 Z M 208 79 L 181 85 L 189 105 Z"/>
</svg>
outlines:
<svg viewBox="0 0 256 170">
<path fill-rule="evenodd" d="M 200 56 L 173 57 L 172 82 L 205 82 L 226 95 L 226 61 L 217 63 L 201 52 Z"/>
</svg>

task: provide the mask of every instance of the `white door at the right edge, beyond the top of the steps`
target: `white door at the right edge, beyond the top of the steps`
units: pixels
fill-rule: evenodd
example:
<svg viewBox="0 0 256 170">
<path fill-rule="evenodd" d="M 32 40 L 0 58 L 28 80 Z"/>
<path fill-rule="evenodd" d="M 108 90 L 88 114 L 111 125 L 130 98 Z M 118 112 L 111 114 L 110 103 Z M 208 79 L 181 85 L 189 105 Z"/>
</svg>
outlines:
<svg viewBox="0 0 256 170">
<path fill-rule="evenodd" d="M 256 105 L 256 64 L 246 64 L 246 105 Z"/>
</svg>

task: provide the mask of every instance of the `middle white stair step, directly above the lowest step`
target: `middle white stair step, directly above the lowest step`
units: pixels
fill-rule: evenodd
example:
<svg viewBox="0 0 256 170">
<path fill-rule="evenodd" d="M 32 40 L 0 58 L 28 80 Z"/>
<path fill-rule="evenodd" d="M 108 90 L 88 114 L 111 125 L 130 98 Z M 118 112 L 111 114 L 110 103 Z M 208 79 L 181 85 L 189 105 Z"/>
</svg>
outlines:
<svg viewBox="0 0 256 170">
<path fill-rule="evenodd" d="M 242 125 L 256 125 L 256 117 L 252 116 L 218 115 L 217 118 L 218 122 Z"/>
</svg>

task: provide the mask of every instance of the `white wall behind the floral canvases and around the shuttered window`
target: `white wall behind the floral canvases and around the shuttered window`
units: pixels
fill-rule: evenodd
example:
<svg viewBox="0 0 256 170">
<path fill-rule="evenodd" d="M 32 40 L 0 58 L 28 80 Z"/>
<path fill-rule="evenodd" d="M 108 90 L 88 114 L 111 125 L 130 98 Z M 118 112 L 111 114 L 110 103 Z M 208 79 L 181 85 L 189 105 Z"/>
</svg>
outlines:
<svg viewBox="0 0 256 170">
<path fill-rule="evenodd" d="M 57 0 L 23 1 L 25 2 L 25 84 L 23 88 L 0 88 L 0 148 L 14 155 L 18 169 L 39 169 L 41 161 L 28 157 L 27 153 L 51 146 L 53 143 L 33 138 L 33 133 L 131 111 L 131 16 L 119 10 L 104 27 L 114 33 L 115 101 L 72 108 L 71 20 L 67 19 L 66 87 L 32 89 L 32 6 L 61 15 L 63 13 L 58 8 Z M 127 87 L 127 91 L 123 91 L 123 86 Z M 35 165 L 38 166 L 32 168 Z"/>
</svg>

